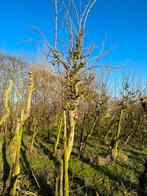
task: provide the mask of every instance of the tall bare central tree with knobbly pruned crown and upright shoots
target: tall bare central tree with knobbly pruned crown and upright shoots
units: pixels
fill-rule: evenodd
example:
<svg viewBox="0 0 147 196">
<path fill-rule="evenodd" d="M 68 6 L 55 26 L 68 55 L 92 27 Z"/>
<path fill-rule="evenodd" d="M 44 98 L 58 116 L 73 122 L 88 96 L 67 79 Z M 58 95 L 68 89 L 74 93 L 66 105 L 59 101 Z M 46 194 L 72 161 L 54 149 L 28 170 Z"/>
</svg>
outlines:
<svg viewBox="0 0 147 196">
<path fill-rule="evenodd" d="M 78 8 L 74 0 L 69 0 L 68 3 L 63 1 L 63 7 L 65 9 L 65 24 L 67 26 L 68 39 L 66 41 L 66 47 L 64 51 L 60 52 L 58 48 L 58 1 L 55 0 L 55 36 L 54 36 L 54 47 L 51 43 L 46 40 L 44 34 L 39 31 L 42 35 L 44 42 L 48 47 L 49 60 L 58 66 L 64 68 L 63 72 L 63 83 L 65 90 L 65 106 L 64 106 L 64 130 L 66 129 L 66 119 L 68 119 L 69 134 L 64 131 L 64 184 L 65 184 L 65 195 L 69 195 L 68 190 L 68 161 L 72 152 L 75 135 L 76 125 L 76 113 L 79 105 L 80 98 L 85 95 L 85 86 L 90 83 L 94 76 L 92 72 L 87 72 L 88 59 L 94 49 L 93 46 L 90 48 L 84 48 L 84 36 L 85 28 L 88 15 L 96 3 L 96 0 L 88 1 L 83 13 L 79 14 Z M 73 10 L 73 12 L 72 12 Z M 67 49 L 67 50 L 66 50 Z M 86 74 L 85 74 L 86 72 Z M 66 117 L 67 116 L 67 117 Z M 66 146 L 67 145 L 67 146 Z M 65 152 L 66 151 L 66 152 Z M 62 174 L 61 174 L 62 175 Z M 61 184 L 59 182 L 59 184 Z"/>
</svg>

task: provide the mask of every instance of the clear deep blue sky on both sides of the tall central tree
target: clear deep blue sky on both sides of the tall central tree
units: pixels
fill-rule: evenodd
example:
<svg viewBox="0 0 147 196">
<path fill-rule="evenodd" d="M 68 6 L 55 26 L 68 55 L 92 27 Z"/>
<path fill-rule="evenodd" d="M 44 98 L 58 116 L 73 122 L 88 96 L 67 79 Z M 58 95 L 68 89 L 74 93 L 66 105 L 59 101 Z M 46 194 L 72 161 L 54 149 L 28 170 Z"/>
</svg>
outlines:
<svg viewBox="0 0 147 196">
<path fill-rule="evenodd" d="M 0 49 L 10 53 L 32 53 L 31 26 L 41 28 L 50 39 L 53 34 L 52 0 L 0 0 Z M 83 2 L 86 0 L 83 0 Z M 61 2 L 61 0 L 60 0 Z M 79 2 L 79 0 L 75 0 Z M 117 47 L 105 58 L 112 64 L 129 62 L 147 82 L 147 0 L 97 0 L 87 24 L 88 40 L 99 43 L 108 36 L 106 48 Z"/>
</svg>

